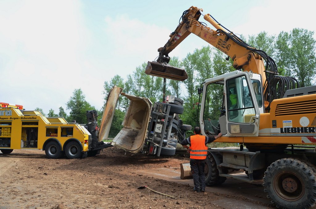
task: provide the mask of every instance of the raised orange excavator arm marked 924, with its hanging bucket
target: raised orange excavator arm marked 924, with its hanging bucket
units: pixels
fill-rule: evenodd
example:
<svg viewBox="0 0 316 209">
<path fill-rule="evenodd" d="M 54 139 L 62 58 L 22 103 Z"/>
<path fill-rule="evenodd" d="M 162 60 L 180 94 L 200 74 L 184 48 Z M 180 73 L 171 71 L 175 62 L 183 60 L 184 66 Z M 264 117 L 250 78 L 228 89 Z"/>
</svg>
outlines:
<svg viewBox="0 0 316 209">
<path fill-rule="evenodd" d="M 233 32 L 223 27 L 210 14 L 204 15 L 204 19 L 215 27 L 216 30 L 207 27 L 205 23 L 198 21 L 199 17 L 202 15 L 201 12 L 203 12 L 203 9 L 194 6 L 183 12 L 178 27 L 170 34 L 170 38 L 167 43 L 158 49 L 159 56 L 157 62 L 148 62 L 146 74 L 174 79 L 174 73 L 176 72 L 176 74 L 179 74 L 180 70 L 170 69 L 171 66 L 167 65 L 170 60 L 168 54 L 189 34 L 194 33 L 210 45 L 213 45 L 218 50 L 228 55 L 228 58 L 230 57 L 233 60 L 233 67 L 235 69 L 260 74 L 262 77 L 262 83 L 264 84 L 263 92 L 265 106 L 268 107 L 270 102 L 273 99 L 276 99 L 271 97 L 272 93 L 270 88 L 270 81 L 278 74 L 274 60 L 264 51 L 258 50 L 246 44 Z M 161 66 L 167 66 L 165 67 L 166 70 L 164 72 L 160 69 Z M 185 72 L 184 69 L 182 70 Z M 164 75 L 161 76 L 159 75 L 160 73 L 163 73 Z M 295 83 L 293 81 L 289 82 Z M 293 85 L 295 86 L 295 84 Z"/>
</svg>

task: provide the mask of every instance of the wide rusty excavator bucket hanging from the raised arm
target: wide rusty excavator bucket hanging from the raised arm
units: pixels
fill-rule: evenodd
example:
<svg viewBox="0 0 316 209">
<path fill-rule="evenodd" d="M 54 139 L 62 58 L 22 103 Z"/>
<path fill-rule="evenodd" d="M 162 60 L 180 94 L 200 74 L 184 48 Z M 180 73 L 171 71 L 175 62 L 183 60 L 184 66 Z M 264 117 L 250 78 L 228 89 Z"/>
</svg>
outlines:
<svg viewBox="0 0 316 209">
<path fill-rule="evenodd" d="M 148 62 L 145 73 L 147 75 L 169 78 L 177 81 L 184 81 L 188 78 L 185 69 L 158 62 Z"/>
</svg>

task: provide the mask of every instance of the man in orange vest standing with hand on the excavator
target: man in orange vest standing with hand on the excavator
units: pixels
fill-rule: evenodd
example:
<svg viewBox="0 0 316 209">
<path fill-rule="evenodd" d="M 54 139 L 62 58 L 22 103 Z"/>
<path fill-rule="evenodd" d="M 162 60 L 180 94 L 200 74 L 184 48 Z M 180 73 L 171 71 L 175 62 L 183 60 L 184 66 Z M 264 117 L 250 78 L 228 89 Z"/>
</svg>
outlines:
<svg viewBox="0 0 316 209">
<path fill-rule="evenodd" d="M 193 183 L 194 183 L 194 191 L 196 192 L 204 192 L 205 191 L 205 174 L 204 174 L 204 166 L 205 159 L 207 156 L 207 146 L 206 144 L 211 143 L 217 138 L 222 136 L 222 133 L 219 133 L 217 136 L 203 136 L 201 134 L 201 128 L 194 128 L 193 136 L 184 139 L 181 142 L 181 145 L 188 149 L 190 152 L 190 166 L 191 172 L 193 174 Z M 190 145 L 190 146 L 188 146 Z"/>
</svg>

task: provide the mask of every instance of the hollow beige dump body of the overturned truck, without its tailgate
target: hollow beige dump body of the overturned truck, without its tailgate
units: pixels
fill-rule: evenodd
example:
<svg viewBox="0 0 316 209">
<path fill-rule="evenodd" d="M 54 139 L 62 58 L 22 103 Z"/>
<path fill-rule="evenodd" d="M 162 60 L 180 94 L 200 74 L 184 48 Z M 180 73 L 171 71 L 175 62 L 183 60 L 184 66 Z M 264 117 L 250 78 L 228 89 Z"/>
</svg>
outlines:
<svg viewBox="0 0 316 209">
<path fill-rule="evenodd" d="M 130 100 L 123 128 L 112 140 L 112 145 L 137 153 L 143 149 L 147 135 L 152 102 L 144 97 L 121 93 Z"/>
</svg>

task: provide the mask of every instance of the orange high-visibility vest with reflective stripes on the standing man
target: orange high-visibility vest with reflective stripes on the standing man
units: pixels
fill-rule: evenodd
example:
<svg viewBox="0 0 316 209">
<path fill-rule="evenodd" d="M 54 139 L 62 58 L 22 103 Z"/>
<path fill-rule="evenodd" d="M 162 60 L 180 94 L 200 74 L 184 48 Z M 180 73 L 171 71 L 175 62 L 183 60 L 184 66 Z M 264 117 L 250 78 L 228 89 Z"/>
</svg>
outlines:
<svg viewBox="0 0 316 209">
<path fill-rule="evenodd" d="M 191 159 L 206 159 L 207 156 L 207 146 L 205 145 L 205 136 L 194 135 L 190 136 L 191 146 L 190 146 L 190 158 Z"/>
</svg>

